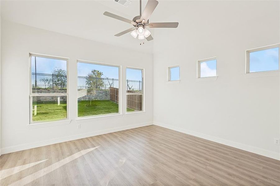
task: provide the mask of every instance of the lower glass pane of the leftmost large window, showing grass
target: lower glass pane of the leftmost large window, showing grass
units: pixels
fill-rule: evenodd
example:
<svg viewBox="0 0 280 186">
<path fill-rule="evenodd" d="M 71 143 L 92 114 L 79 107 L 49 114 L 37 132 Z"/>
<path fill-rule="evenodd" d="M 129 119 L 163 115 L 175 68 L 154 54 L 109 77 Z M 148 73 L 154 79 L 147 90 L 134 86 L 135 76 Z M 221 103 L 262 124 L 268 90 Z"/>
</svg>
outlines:
<svg viewBox="0 0 280 186">
<path fill-rule="evenodd" d="M 67 118 L 67 96 L 32 96 L 32 122 Z"/>
</svg>

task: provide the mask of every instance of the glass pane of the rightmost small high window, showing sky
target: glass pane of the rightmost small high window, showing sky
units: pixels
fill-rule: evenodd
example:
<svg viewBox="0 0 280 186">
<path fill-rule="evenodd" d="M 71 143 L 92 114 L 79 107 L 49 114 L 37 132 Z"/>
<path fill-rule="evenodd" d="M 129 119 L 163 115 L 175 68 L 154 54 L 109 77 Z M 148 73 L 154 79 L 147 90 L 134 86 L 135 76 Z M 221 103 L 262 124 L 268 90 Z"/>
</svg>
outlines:
<svg viewBox="0 0 280 186">
<path fill-rule="evenodd" d="M 279 69 L 279 47 L 250 52 L 250 72 Z"/>
</svg>

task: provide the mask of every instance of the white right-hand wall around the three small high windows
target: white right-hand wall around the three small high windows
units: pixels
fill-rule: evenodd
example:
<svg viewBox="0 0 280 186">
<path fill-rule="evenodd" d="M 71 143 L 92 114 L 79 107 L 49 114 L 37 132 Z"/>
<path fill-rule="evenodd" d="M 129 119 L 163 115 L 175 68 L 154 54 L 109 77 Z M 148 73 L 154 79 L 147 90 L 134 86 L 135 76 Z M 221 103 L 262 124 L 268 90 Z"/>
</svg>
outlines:
<svg viewBox="0 0 280 186">
<path fill-rule="evenodd" d="M 179 26 L 155 30 L 155 124 L 280 159 L 279 76 L 244 77 L 246 50 L 280 42 L 279 1 L 180 1 L 168 10 L 177 13 L 165 21 Z M 214 56 L 218 79 L 196 81 L 197 60 Z M 177 64 L 181 82 L 168 84 Z"/>
</svg>

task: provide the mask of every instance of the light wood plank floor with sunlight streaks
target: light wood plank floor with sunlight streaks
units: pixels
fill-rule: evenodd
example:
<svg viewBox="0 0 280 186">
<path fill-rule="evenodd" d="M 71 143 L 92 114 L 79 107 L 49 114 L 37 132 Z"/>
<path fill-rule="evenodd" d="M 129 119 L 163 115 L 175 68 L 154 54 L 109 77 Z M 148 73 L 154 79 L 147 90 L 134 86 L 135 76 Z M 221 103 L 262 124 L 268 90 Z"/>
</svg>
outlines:
<svg viewBox="0 0 280 186">
<path fill-rule="evenodd" d="M 0 157 L 4 185 L 280 185 L 280 161 L 159 126 Z"/>
</svg>

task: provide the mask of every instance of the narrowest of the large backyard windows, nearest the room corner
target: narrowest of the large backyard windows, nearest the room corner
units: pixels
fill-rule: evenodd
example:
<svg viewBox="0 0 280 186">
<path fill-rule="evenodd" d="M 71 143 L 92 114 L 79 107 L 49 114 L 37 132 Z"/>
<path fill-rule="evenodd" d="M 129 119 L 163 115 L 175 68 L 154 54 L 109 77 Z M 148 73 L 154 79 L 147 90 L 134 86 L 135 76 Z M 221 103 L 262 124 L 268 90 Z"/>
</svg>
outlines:
<svg viewBox="0 0 280 186">
<path fill-rule="evenodd" d="M 144 69 L 126 68 L 126 112 L 144 110 Z"/>
</svg>

